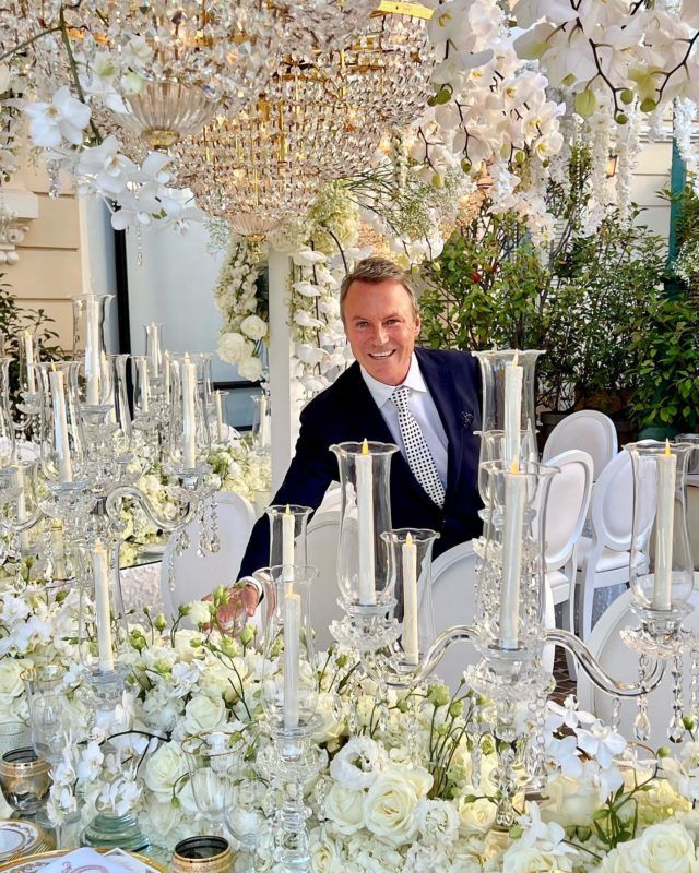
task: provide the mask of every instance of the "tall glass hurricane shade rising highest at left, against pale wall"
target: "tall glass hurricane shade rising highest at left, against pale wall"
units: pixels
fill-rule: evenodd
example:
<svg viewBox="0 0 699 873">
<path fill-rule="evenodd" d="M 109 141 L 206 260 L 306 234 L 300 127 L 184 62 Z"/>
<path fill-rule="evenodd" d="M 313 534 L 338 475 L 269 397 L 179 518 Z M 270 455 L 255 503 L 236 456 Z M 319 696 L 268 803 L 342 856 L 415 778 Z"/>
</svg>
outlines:
<svg viewBox="0 0 699 873">
<path fill-rule="evenodd" d="M 104 406 L 110 394 L 110 364 L 105 343 L 107 307 L 112 294 L 73 297 L 73 356 L 82 363 L 81 400 L 87 407 Z"/>
</svg>

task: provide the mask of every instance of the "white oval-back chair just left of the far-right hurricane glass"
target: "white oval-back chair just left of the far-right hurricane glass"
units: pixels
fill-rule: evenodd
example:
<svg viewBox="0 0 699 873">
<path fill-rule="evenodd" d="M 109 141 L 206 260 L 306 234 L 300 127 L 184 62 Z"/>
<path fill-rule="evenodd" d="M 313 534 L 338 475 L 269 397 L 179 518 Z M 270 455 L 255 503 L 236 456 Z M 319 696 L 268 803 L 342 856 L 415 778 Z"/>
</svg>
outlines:
<svg viewBox="0 0 699 873">
<path fill-rule="evenodd" d="M 595 590 L 628 582 L 630 576 L 633 469 L 628 452 L 619 452 L 595 482 L 590 519 L 592 537 L 580 537 L 578 547 L 577 633 L 583 641 L 592 631 Z M 641 553 L 638 560 L 645 558 Z"/>
</svg>

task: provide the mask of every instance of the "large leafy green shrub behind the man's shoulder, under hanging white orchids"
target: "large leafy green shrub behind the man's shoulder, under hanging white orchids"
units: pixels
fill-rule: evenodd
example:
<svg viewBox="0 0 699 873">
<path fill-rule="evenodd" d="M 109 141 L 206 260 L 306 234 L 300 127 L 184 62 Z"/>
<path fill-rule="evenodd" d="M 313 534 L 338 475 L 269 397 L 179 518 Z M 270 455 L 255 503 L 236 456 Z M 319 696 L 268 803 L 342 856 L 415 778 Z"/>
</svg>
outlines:
<svg viewBox="0 0 699 873">
<path fill-rule="evenodd" d="M 637 371 L 632 339 L 661 292 L 663 240 L 611 212 L 594 236 L 580 232 L 589 172 L 585 153 L 571 164 L 566 196 L 550 192 L 564 222 L 556 248 L 533 249 L 516 216 L 476 217 L 426 265 L 423 338 L 433 347 L 540 348 L 537 405 L 604 411 L 628 396 Z"/>
</svg>

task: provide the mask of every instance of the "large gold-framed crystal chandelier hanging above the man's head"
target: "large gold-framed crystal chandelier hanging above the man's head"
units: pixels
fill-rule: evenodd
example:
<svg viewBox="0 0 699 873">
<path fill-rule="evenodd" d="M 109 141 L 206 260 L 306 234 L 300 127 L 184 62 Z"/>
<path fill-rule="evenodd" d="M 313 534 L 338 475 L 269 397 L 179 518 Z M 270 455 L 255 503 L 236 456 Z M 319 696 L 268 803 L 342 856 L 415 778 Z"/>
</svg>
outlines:
<svg viewBox="0 0 699 873">
<path fill-rule="evenodd" d="M 383 130 L 425 105 L 430 14 L 381 3 L 348 48 L 286 58 L 257 103 L 182 142 L 179 178 L 199 205 L 257 236 L 307 212 L 323 181 L 366 168 Z"/>
</svg>

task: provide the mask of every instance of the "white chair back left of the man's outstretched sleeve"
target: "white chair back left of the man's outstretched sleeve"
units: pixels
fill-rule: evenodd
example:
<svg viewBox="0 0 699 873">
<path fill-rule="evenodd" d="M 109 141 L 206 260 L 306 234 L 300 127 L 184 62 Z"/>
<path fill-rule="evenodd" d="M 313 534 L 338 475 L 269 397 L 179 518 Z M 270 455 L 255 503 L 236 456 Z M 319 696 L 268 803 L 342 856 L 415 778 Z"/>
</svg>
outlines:
<svg viewBox="0 0 699 873">
<path fill-rule="evenodd" d="M 211 594 L 218 585 L 230 585 L 238 578 L 240 562 L 245 554 L 250 531 L 254 524 L 254 512 L 245 498 L 229 491 L 214 494 L 218 514 L 221 548 L 217 552 L 197 555 L 201 527 L 194 518 L 186 527 L 190 546 L 182 554 L 174 555 L 175 587 L 170 589 L 169 565 L 175 549 L 175 537 L 170 537 L 163 554 L 161 570 L 161 598 L 165 613 L 177 615 L 178 607 Z"/>
</svg>

